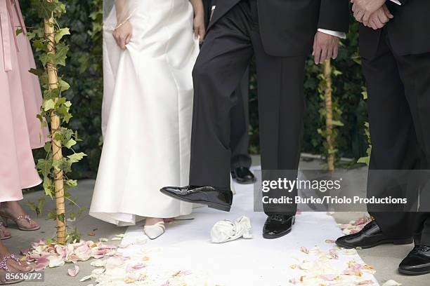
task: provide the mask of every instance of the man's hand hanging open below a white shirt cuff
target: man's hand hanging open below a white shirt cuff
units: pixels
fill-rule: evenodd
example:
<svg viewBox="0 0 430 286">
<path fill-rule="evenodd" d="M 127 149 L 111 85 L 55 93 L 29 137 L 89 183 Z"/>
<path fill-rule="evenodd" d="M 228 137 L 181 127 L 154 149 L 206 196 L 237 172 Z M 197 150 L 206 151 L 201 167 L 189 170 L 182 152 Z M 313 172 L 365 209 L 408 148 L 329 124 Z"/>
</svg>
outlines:
<svg viewBox="0 0 430 286">
<path fill-rule="evenodd" d="M 337 57 L 337 51 L 339 48 L 339 38 L 325 34 L 323 32 L 317 32 L 313 40 L 313 58 L 315 64 L 322 64 L 325 60 L 333 57 Z"/>
</svg>

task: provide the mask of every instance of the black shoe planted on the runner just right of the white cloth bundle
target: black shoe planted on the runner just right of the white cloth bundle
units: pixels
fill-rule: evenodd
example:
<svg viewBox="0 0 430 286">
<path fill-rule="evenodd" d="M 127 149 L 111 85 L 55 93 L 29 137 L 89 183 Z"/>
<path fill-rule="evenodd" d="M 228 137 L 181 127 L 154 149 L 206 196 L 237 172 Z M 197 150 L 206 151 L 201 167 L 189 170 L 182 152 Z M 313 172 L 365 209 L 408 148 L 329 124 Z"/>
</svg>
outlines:
<svg viewBox="0 0 430 286">
<path fill-rule="evenodd" d="M 280 238 L 288 234 L 296 217 L 285 214 L 271 214 L 263 226 L 263 238 Z"/>
</svg>

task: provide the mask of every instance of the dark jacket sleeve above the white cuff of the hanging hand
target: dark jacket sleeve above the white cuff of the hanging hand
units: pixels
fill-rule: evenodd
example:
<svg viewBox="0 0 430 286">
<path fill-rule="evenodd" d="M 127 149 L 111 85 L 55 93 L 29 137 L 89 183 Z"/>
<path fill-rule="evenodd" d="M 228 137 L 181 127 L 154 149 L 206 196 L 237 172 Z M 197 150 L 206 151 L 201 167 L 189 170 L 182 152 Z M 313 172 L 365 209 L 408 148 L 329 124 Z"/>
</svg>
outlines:
<svg viewBox="0 0 430 286">
<path fill-rule="evenodd" d="M 348 33 L 349 16 L 348 0 L 321 0 L 318 29 Z"/>
</svg>

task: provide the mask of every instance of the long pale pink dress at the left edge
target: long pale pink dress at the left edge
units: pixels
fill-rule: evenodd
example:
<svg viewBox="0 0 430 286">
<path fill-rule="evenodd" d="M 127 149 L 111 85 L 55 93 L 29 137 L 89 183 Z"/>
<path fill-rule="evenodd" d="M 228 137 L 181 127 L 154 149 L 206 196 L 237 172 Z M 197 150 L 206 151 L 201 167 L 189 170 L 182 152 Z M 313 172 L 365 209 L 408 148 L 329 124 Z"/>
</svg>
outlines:
<svg viewBox="0 0 430 286">
<path fill-rule="evenodd" d="M 0 0 L 0 202 L 22 199 L 22 189 L 37 186 L 32 149 L 43 147 L 46 130 L 39 119 L 41 90 L 28 71 L 34 58 L 18 0 Z"/>
</svg>

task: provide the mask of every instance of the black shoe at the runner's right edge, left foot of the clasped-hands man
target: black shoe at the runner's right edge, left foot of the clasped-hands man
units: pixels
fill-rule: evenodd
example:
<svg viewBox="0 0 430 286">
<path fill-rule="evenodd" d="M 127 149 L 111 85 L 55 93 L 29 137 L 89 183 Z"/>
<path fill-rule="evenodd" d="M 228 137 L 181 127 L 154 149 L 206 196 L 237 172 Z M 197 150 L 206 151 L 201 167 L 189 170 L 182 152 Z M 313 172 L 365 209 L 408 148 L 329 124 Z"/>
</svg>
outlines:
<svg viewBox="0 0 430 286">
<path fill-rule="evenodd" d="M 358 233 L 342 236 L 336 240 L 336 244 L 344 248 L 370 248 L 385 243 L 405 245 L 412 243 L 412 238 L 389 238 L 382 233 L 377 223 L 372 221 L 366 224 L 361 231 L 358 231 Z"/>
</svg>

